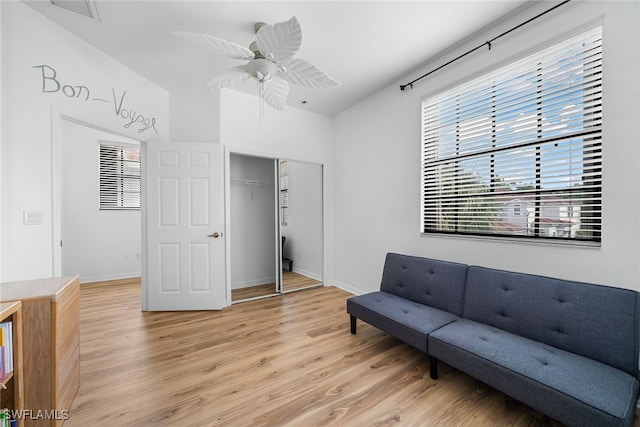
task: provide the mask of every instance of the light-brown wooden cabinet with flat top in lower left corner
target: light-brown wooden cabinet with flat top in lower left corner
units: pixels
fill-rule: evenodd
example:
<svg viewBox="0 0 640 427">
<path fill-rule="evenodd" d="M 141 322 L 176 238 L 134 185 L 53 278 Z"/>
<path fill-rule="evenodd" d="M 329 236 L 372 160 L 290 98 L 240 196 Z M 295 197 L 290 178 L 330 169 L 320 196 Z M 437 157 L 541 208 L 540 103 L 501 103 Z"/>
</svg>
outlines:
<svg viewBox="0 0 640 427">
<path fill-rule="evenodd" d="M 0 301 L 22 301 L 24 409 L 54 414 L 20 425 L 60 426 L 80 387 L 80 280 L 0 283 Z"/>
</svg>

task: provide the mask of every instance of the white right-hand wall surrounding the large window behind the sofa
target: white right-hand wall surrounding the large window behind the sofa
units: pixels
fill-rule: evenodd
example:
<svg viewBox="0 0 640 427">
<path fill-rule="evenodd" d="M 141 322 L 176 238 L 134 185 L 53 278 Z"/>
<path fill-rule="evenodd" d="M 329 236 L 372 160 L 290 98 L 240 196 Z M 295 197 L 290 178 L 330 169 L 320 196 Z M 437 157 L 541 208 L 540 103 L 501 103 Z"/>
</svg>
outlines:
<svg viewBox="0 0 640 427">
<path fill-rule="evenodd" d="M 399 85 L 547 9 L 510 17 L 336 117 L 336 283 L 379 288 L 389 251 L 640 290 L 640 3 L 571 2 L 401 92 Z M 600 248 L 421 236 L 421 99 L 595 22 L 603 23 L 603 240 Z"/>
</svg>

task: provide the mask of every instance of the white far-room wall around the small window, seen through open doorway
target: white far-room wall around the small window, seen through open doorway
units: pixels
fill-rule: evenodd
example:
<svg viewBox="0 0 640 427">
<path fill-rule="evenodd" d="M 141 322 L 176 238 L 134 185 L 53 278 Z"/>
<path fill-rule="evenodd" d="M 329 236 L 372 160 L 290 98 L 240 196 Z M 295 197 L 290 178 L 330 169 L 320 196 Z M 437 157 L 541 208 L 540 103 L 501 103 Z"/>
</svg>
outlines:
<svg viewBox="0 0 640 427">
<path fill-rule="evenodd" d="M 140 210 L 100 210 L 101 141 L 137 141 L 62 123 L 62 274 L 81 283 L 140 277 Z"/>
</svg>

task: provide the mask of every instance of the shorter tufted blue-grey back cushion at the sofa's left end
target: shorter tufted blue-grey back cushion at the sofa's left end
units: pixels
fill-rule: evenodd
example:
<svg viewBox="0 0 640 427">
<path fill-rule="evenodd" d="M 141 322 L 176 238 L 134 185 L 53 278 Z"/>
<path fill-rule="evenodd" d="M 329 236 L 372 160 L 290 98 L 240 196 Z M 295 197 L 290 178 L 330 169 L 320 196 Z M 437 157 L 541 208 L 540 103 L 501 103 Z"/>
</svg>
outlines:
<svg viewBox="0 0 640 427">
<path fill-rule="evenodd" d="M 389 253 L 380 290 L 462 316 L 468 266 Z"/>
</svg>

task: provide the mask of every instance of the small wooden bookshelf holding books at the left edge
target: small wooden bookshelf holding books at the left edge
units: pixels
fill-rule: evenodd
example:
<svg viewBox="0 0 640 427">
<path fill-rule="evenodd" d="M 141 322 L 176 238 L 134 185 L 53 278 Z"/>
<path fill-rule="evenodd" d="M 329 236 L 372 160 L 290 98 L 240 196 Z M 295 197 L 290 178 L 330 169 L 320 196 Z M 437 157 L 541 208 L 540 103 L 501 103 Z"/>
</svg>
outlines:
<svg viewBox="0 0 640 427">
<path fill-rule="evenodd" d="M 0 303 L 0 323 L 11 322 L 13 329 L 13 372 L 4 378 L 6 388 L 0 388 L 0 410 L 24 409 L 24 387 L 22 375 L 22 302 Z"/>
</svg>

